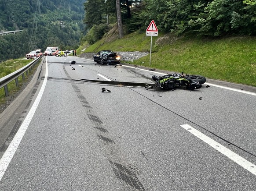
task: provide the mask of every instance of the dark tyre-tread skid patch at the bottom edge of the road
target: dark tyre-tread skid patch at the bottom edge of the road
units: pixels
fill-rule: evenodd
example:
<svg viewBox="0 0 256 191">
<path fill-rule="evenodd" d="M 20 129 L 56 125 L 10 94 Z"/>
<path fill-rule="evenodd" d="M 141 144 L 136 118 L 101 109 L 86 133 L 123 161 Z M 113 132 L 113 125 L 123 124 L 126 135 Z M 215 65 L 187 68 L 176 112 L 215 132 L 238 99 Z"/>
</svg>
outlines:
<svg viewBox="0 0 256 191">
<path fill-rule="evenodd" d="M 112 165 L 113 171 L 117 178 L 123 180 L 126 184 L 134 187 L 136 190 L 145 191 L 145 188 L 139 181 L 139 178 L 132 168 L 123 166 L 111 160 L 110 164 Z"/>
</svg>

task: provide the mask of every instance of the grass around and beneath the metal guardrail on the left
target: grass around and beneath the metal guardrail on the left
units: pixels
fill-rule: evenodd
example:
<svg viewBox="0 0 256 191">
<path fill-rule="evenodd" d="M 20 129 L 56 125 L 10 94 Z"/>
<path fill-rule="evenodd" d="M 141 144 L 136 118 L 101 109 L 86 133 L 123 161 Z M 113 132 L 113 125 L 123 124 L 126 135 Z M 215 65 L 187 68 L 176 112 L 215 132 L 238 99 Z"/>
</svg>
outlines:
<svg viewBox="0 0 256 191">
<path fill-rule="evenodd" d="M 26 66 L 31 62 L 32 60 L 7 60 L 5 62 L 0 63 L 0 78 L 3 78 L 4 76 L 11 74 L 14 71 L 17 71 L 18 69 L 22 68 L 23 66 Z M 34 67 L 34 70 L 36 67 Z M 32 71 L 33 73 L 33 71 Z M 28 77 L 25 74 L 25 81 L 27 81 Z M 22 76 L 18 77 L 18 84 L 19 86 L 22 85 L 24 81 L 22 81 Z M 15 92 L 18 92 L 19 87 L 16 87 L 15 80 L 9 83 L 8 85 L 9 94 L 14 94 Z M 0 89 L 0 104 L 3 104 L 6 102 L 8 97 L 5 97 L 4 88 Z"/>
</svg>

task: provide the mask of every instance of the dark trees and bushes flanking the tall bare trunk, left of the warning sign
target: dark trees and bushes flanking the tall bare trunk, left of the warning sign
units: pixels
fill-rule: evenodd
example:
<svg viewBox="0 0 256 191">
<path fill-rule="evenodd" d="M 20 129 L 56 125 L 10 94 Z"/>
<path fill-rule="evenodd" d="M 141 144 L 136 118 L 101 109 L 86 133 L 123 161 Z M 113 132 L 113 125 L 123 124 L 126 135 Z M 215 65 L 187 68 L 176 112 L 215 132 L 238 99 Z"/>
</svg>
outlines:
<svg viewBox="0 0 256 191">
<path fill-rule="evenodd" d="M 138 29 L 134 22 L 138 22 L 138 17 L 132 17 L 131 6 L 140 5 L 143 0 L 120 0 L 122 10 L 122 20 L 128 28 L 128 32 Z M 87 0 L 84 3 L 87 35 L 82 38 L 81 44 L 88 42 L 95 43 L 101 39 L 105 32 L 110 30 L 110 26 L 117 22 L 116 0 Z M 138 14 L 137 14 L 138 16 Z"/>
</svg>

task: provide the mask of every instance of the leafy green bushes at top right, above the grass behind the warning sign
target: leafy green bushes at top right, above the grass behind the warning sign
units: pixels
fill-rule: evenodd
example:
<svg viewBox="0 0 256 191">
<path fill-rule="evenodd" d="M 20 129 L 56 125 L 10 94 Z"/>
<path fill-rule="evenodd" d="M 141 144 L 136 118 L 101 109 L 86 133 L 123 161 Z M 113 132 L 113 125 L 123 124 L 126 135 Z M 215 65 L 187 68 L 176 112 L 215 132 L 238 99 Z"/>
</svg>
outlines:
<svg viewBox="0 0 256 191">
<path fill-rule="evenodd" d="M 196 35 L 256 35 L 254 0 L 144 0 L 143 17 L 160 31 Z"/>
</svg>

